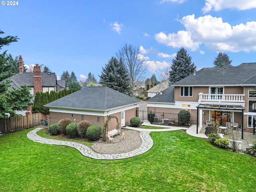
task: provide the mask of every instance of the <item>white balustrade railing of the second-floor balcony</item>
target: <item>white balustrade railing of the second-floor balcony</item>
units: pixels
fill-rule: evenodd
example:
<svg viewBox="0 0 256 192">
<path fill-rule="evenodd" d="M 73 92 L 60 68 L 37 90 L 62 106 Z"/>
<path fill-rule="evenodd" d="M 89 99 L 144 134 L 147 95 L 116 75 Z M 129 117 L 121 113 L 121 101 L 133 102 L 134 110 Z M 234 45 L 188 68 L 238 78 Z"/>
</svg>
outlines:
<svg viewBox="0 0 256 192">
<path fill-rule="evenodd" d="M 204 94 L 199 93 L 198 102 L 244 102 L 244 94 Z"/>
</svg>

